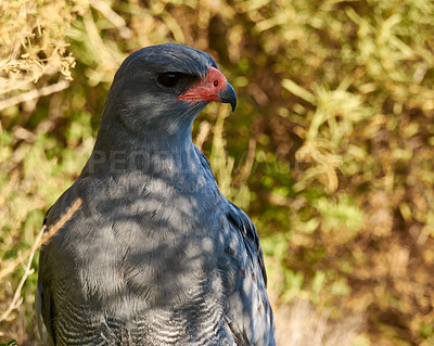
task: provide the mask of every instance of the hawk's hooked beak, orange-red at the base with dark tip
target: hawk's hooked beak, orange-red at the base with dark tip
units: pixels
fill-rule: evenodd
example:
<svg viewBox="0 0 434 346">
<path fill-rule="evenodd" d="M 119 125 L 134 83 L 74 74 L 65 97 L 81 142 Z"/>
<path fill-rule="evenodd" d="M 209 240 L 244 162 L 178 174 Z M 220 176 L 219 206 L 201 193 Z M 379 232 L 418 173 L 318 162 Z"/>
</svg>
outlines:
<svg viewBox="0 0 434 346">
<path fill-rule="evenodd" d="M 237 107 L 237 94 L 226 77 L 217 68 L 209 66 L 208 75 L 194 84 L 178 100 L 196 102 L 222 102 L 232 106 L 232 112 Z"/>
</svg>

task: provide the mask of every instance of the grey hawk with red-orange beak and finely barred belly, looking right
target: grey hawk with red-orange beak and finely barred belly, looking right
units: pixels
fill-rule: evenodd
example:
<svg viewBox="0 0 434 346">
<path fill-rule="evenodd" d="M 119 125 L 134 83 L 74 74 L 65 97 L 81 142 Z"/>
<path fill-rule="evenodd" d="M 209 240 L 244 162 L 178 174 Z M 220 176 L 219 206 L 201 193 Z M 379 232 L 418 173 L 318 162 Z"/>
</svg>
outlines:
<svg viewBox="0 0 434 346">
<path fill-rule="evenodd" d="M 193 144 L 195 116 L 237 95 L 206 53 L 163 43 L 116 72 L 95 144 L 47 212 L 36 292 L 48 345 L 276 345 L 255 226 Z"/>
</svg>

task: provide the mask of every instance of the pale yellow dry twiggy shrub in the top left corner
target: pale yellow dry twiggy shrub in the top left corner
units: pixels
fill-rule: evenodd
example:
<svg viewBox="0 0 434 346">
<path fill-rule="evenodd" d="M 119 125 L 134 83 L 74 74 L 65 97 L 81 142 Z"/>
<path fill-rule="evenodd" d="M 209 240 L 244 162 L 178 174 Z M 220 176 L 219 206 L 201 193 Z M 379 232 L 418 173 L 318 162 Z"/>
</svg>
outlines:
<svg viewBox="0 0 434 346">
<path fill-rule="evenodd" d="M 74 57 L 65 31 L 74 20 L 73 3 L 1 1 L 0 111 L 67 88 Z M 54 85 L 49 80 L 58 79 Z M 38 84 L 39 81 L 39 84 Z M 36 100 L 36 101 L 35 101 Z"/>
</svg>

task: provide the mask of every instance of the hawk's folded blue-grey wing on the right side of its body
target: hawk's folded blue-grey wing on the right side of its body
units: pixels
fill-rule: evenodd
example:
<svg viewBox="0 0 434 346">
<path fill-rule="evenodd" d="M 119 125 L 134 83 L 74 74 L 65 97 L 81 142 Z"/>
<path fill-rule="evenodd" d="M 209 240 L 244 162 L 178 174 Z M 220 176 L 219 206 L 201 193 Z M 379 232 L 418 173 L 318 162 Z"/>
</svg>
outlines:
<svg viewBox="0 0 434 346">
<path fill-rule="evenodd" d="M 226 268 L 230 273 L 228 325 L 238 345 L 275 345 L 275 322 L 266 292 L 267 275 L 258 233 L 248 216 L 231 202 L 226 218 L 242 239 L 241 248 L 228 252 L 234 258 L 230 269 Z"/>
</svg>

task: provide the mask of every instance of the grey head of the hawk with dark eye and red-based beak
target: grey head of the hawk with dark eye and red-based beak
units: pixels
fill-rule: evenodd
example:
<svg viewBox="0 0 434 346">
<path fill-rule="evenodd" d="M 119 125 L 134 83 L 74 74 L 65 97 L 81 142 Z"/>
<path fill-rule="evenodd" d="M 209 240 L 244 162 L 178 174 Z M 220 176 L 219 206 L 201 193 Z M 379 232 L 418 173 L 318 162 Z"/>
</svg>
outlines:
<svg viewBox="0 0 434 346">
<path fill-rule="evenodd" d="M 118 121 L 135 132 L 191 129 L 209 102 L 237 105 L 235 92 L 214 60 L 195 49 L 166 43 L 129 55 L 115 75 L 101 126 Z"/>
</svg>

